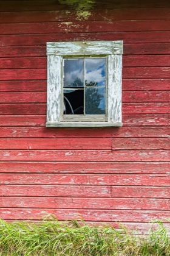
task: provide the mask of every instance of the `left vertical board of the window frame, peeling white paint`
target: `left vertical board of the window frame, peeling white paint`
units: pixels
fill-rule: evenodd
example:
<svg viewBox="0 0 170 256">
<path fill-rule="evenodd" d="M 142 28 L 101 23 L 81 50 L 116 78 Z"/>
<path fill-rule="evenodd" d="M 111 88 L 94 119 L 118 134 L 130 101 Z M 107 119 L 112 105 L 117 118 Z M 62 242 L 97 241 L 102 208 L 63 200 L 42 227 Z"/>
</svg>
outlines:
<svg viewBox="0 0 170 256">
<path fill-rule="evenodd" d="M 61 120 L 62 57 L 47 57 L 47 122 Z"/>
</svg>

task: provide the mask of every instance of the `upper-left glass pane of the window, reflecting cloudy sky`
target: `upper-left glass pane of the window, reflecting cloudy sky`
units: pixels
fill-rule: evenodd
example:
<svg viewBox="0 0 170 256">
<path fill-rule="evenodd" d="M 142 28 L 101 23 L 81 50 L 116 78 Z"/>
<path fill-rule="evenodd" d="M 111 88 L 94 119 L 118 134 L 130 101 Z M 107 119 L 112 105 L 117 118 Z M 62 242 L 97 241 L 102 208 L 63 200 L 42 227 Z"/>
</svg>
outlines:
<svg viewBox="0 0 170 256">
<path fill-rule="evenodd" d="M 64 87 L 83 87 L 83 59 L 64 60 Z"/>
</svg>

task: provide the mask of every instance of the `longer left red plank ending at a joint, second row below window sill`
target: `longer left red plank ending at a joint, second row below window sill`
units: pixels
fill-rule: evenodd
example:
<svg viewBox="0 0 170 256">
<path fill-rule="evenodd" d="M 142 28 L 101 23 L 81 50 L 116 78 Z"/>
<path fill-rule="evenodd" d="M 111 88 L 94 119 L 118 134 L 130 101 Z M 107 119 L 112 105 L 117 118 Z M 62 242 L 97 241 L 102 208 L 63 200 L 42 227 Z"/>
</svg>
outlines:
<svg viewBox="0 0 170 256">
<path fill-rule="evenodd" d="M 165 139 L 166 141 L 166 139 Z M 161 141 L 160 141 L 161 143 Z M 163 144 L 163 141 L 162 143 Z M 168 144 L 168 143 L 167 143 Z M 109 138 L 0 139 L 0 149 L 111 149 Z M 168 146 L 168 145 L 167 145 Z M 157 147 L 160 149 L 160 147 Z M 165 148 L 166 149 L 166 148 Z"/>
</svg>

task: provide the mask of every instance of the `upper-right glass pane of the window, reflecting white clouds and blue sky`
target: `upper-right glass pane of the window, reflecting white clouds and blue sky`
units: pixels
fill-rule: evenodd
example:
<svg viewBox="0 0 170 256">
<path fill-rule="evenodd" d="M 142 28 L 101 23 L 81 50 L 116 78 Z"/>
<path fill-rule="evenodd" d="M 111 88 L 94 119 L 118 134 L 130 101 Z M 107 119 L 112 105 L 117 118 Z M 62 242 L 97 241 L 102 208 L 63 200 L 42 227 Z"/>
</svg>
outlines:
<svg viewBox="0 0 170 256">
<path fill-rule="evenodd" d="M 86 87 L 101 87 L 106 84 L 106 59 L 85 59 Z"/>
</svg>

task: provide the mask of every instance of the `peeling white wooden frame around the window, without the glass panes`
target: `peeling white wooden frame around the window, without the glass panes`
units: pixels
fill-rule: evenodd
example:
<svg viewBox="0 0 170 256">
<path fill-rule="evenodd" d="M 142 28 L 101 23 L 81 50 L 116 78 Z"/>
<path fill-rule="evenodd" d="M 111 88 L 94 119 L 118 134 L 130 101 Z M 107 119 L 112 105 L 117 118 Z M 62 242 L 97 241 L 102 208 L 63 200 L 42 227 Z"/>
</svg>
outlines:
<svg viewBox="0 0 170 256">
<path fill-rule="evenodd" d="M 79 41 L 47 43 L 46 127 L 122 126 L 121 82 L 123 41 Z M 66 57 L 106 57 L 106 121 L 63 121 L 63 59 Z M 93 115 L 90 115 L 92 119 Z M 97 115 L 94 115 L 95 117 Z M 100 118 L 99 118 L 100 119 Z"/>
</svg>

